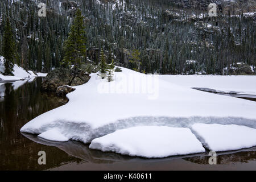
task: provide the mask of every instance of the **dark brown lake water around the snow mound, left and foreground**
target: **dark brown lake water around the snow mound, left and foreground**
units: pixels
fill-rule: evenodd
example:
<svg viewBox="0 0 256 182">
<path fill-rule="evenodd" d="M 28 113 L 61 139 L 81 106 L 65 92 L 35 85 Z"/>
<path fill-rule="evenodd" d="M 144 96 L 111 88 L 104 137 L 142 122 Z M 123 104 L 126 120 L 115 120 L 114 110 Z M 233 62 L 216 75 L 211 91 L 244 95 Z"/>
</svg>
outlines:
<svg viewBox="0 0 256 182">
<path fill-rule="evenodd" d="M 50 142 L 20 133 L 31 119 L 67 102 L 40 92 L 42 79 L 0 83 L 0 170 L 256 170 L 256 147 L 218 153 L 217 164 L 210 165 L 209 151 L 164 159 L 133 158 L 91 150 L 76 141 Z M 46 165 L 38 164 L 39 151 L 46 152 Z"/>
</svg>

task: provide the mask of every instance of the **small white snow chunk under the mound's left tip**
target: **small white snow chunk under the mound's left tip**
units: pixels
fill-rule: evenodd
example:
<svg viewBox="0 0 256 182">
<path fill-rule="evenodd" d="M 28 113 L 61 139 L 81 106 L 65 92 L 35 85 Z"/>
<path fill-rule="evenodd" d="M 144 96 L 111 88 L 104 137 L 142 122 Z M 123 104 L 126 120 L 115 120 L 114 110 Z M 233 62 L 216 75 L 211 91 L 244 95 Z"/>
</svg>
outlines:
<svg viewBox="0 0 256 182">
<path fill-rule="evenodd" d="M 68 138 L 65 137 L 64 135 L 62 135 L 60 133 L 60 131 L 56 128 L 48 130 L 48 131 L 38 135 L 38 137 L 41 137 L 41 138 L 44 138 L 47 140 L 57 141 L 57 142 L 67 142 L 68 141 Z"/>
</svg>

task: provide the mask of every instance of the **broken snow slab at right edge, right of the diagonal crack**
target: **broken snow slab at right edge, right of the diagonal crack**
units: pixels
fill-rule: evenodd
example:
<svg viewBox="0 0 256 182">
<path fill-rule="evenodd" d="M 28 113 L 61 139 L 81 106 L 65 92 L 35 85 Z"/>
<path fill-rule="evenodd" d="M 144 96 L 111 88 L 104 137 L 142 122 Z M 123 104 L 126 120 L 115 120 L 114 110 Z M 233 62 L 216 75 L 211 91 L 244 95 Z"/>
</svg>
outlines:
<svg viewBox="0 0 256 182">
<path fill-rule="evenodd" d="M 230 151 L 256 146 L 256 129 L 238 125 L 195 123 L 192 130 L 212 151 Z"/>
</svg>

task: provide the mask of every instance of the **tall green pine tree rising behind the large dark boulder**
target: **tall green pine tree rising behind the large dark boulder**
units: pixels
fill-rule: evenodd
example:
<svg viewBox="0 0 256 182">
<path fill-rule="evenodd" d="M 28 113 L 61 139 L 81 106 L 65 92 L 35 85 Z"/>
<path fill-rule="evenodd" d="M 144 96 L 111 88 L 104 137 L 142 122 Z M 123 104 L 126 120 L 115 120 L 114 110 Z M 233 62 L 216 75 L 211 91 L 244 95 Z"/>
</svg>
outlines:
<svg viewBox="0 0 256 182">
<path fill-rule="evenodd" d="M 64 43 L 64 65 L 70 67 L 72 64 L 75 68 L 79 68 L 81 61 L 86 56 L 86 38 L 84 27 L 84 16 L 78 9 L 76 16 L 71 26 L 68 39 Z"/>
</svg>

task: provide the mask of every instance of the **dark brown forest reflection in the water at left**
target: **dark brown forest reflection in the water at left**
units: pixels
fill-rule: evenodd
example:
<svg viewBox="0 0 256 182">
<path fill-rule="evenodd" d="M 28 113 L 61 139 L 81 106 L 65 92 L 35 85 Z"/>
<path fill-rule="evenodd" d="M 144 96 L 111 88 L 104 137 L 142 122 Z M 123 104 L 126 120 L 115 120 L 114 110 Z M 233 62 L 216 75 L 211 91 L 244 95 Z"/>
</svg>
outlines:
<svg viewBox="0 0 256 182">
<path fill-rule="evenodd" d="M 0 100 L 0 170 L 47 169 L 63 162 L 78 161 L 55 147 L 32 142 L 20 134 L 20 128 L 28 121 L 62 105 L 56 97 L 40 92 L 41 82 L 42 78 L 36 78 L 23 85 L 20 82 L 1 85 L 5 97 Z M 48 156 L 51 166 L 38 165 L 40 150 L 52 154 Z M 59 157 L 55 158 L 54 154 Z"/>
</svg>

